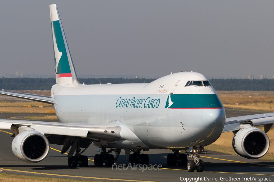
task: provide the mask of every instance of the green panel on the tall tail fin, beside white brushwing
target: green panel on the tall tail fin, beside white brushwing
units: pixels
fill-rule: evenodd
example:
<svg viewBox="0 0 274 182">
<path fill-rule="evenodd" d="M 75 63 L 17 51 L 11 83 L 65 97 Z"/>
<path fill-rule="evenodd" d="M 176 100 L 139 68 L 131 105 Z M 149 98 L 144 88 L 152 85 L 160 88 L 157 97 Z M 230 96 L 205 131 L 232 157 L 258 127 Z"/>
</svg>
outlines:
<svg viewBox="0 0 274 182">
<path fill-rule="evenodd" d="M 56 74 L 71 73 L 70 66 L 68 63 L 68 56 L 67 56 L 67 52 L 66 52 L 65 42 L 63 39 L 62 31 L 61 31 L 60 22 L 59 22 L 59 20 L 57 20 L 57 21 L 53 21 L 52 23 L 53 23 L 57 48 L 58 48 L 59 52 L 62 52 L 62 56 L 58 63 L 58 68 L 56 68 L 56 70 L 57 70 Z M 54 59 L 56 61 L 55 54 L 54 54 Z M 55 66 L 56 66 L 56 63 L 55 63 Z"/>
</svg>

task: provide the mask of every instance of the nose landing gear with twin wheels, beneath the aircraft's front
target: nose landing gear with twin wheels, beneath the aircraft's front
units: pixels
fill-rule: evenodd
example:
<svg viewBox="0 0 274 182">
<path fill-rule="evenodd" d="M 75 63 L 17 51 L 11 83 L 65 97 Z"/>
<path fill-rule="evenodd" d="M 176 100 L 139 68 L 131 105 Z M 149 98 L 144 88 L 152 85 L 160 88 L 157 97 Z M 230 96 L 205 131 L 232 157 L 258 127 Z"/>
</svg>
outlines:
<svg viewBox="0 0 274 182">
<path fill-rule="evenodd" d="M 188 172 L 194 172 L 195 169 L 197 170 L 197 172 L 203 172 L 204 170 L 204 162 L 202 160 L 199 160 L 199 149 L 203 151 L 203 147 L 200 147 L 199 145 L 189 147 L 189 153 L 192 153 L 192 155 L 188 157 L 194 160 L 188 160 Z"/>
</svg>

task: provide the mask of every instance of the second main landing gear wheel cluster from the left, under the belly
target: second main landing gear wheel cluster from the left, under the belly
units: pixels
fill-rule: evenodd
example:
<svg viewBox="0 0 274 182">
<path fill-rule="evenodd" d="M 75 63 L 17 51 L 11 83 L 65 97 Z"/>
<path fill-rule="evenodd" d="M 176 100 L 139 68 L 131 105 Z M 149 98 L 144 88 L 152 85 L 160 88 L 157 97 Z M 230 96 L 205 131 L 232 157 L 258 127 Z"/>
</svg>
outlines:
<svg viewBox="0 0 274 182">
<path fill-rule="evenodd" d="M 98 148 L 98 149 L 100 149 L 100 148 Z M 114 157 L 112 154 L 109 154 L 109 153 L 113 152 L 114 150 L 115 149 L 106 151 L 106 148 L 101 148 L 101 153 L 96 154 L 94 156 L 94 165 L 95 166 L 103 166 L 103 164 L 105 163 L 106 166 L 112 166 L 114 164 Z M 119 151 L 119 154 L 120 154 L 120 151 Z M 99 150 L 98 150 L 98 152 L 99 152 Z M 116 156 L 116 153 L 117 153 L 117 149 L 115 151 L 115 156 Z"/>
</svg>

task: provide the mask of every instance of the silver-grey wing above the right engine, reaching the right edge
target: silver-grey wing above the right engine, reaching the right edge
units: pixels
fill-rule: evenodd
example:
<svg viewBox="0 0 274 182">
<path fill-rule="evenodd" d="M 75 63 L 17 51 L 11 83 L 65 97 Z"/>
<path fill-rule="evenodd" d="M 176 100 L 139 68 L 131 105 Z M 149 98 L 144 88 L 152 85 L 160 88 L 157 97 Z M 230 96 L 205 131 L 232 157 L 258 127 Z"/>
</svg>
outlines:
<svg viewBox="0 0 274 182">
<path fill-rule="evenodd" d="M 264 125 L 265 133 L 267 133 L 271 129 L 273 123 L 274 113 L 231 117 L 226 118 L 223 132 L 240 130 L 241 124 L 250 124 L 251 126 Z"/>
</svg>

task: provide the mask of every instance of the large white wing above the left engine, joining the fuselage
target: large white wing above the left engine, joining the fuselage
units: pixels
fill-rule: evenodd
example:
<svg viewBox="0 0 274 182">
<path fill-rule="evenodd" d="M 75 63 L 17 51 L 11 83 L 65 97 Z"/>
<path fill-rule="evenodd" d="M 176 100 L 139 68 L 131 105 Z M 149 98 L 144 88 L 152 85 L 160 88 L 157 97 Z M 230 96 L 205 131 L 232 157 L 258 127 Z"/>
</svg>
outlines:
<svg viewBox="0 0 274 182">
<path fill-rule="evenodd" d="M 26 120 L 0 120 L 0 129 L 15 131 L 16 129 L 18 130 L 18 127 L 20 126 L 33 128 L 40 133 L 44 133 L 45 136 L 52 135 L 55 136 L 55 138 L 61 138 L 61 136 L 77 136 L 104 141 L 116 141 L 121 139 L 120 131 L 124 128 L 115 122 L 108 124 L 81 124 Z"/>
</svg>

